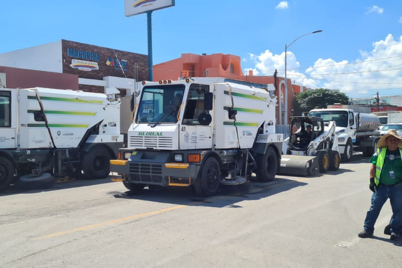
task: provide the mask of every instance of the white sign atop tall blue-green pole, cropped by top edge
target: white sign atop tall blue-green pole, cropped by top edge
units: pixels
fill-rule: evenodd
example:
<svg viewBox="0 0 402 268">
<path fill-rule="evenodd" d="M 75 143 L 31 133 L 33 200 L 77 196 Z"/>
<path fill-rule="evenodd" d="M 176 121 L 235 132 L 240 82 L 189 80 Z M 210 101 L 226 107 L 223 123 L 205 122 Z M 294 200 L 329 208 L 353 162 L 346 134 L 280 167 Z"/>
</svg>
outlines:
<svg viewBox="0 0 402 268">
<path fill-rule="evenodd" d="M 134 16 L 147 11 L 174 6 L 175 0 L 124 0 L 124 15 Z"/>
</svg>

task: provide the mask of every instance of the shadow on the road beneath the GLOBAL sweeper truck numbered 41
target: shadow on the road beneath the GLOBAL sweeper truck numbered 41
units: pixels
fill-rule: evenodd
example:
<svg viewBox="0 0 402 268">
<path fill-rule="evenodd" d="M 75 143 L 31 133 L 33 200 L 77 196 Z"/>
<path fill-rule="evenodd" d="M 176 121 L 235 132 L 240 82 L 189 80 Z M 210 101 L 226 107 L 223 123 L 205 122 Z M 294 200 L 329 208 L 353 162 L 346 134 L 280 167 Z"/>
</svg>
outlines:
<svg viewBox="0 0 402 268">
<path fill-rule="evenodd" d="M 279 177 L 267 183 L 248 181 L 247 183 L 236 186 L 222 186 L 217 196 L 209 198 L 198 197 L 192 187 L 170 187 L 160 190 L 149 190 L 146 188 L 140 192 L 110 192 L 109 194 L 113 195 L 115 198 L 144 200 L 166 204 L 242 208 L 242 206 L 234 204 L 243 200 L 259 200 L 305 185 L 307 185 L 307 183 Z"/>
</svg>

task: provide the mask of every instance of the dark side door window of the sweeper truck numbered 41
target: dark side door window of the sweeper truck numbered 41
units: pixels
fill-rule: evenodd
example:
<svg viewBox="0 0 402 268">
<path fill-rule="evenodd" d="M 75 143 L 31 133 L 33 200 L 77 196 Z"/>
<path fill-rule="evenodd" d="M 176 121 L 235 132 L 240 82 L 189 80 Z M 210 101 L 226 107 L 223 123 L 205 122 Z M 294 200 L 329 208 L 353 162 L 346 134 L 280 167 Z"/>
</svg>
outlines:
<svg viewBox="0 0 402 268">
<path fill-rule="evenodd" d="M 209 92 L 209 85 L 192 84 L 187 95 L 184 125 L 199 125 L 198 117 L 204 111 L 204 95 Z"/>
</svg>

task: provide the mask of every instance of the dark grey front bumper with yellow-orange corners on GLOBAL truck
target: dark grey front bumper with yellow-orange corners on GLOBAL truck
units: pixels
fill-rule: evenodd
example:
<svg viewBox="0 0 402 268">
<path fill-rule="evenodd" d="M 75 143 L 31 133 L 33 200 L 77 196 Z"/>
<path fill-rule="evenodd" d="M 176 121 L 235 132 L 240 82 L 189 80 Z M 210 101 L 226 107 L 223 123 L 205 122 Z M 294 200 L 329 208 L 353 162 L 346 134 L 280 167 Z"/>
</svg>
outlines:
<svg viewBox="0 0 402 268">
<path fill-rule="evenodd" d="M 122 175 L 128 183 L 160 186 L 189 186 L 197 177 L 200 165 L 172 163 L 170 154 L 162 152 L 149 159 L 146 152 L 137 152 L 128 160 L 111 160 L 111 171 Z"/>
</svg>

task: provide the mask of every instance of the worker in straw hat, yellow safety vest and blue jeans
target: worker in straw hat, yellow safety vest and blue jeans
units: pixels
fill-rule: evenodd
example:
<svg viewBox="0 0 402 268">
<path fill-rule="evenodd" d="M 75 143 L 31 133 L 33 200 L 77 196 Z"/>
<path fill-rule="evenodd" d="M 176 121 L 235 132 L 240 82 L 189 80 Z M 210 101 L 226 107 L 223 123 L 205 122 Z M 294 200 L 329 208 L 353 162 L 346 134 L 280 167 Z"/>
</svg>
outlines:
<svg viewBox="0 0 402 268">
<path fill-rule="evenodd" d="M 377 152 L 371 157 L 373 163 L 370 169 L 370 185 L 373 191 L 371 207 L 367 211 L 364 221 L 364 230 L 359 237 L 371 237 L 374 233 L 374 224 L 384 203 L 390 199 L 392 219 L 390 239 L 396 240 L 400 236 L 402 225 L 402 138 L 396 130 L 389 130 L 377 143 Z"/>
</svg>

